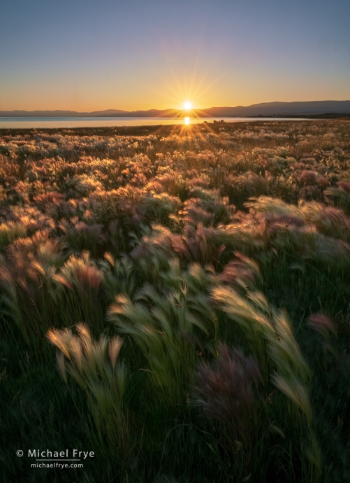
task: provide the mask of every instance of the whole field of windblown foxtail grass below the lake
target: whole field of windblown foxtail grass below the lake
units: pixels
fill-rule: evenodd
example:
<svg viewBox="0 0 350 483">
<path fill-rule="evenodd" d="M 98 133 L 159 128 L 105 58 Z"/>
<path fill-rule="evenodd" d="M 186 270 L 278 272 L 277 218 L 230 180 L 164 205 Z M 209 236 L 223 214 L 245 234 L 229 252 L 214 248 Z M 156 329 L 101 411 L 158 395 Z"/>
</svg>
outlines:
<svg viewBox="0 0 350 483">
<path fill-rule="evenodd" d="M 2 130 L 0 209 L 2 482 L 350 481 L 349 121 Z"/>
</svg>

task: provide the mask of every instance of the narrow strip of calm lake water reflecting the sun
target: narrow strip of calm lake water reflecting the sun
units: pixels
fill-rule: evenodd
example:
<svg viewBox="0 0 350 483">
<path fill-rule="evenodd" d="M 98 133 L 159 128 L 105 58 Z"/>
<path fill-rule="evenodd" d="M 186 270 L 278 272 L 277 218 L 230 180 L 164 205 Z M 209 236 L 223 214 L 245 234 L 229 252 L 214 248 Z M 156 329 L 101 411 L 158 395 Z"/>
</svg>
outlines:
<svg viewBox="0 0 350 483">
<path fill-rule="evenodd" d="M 0 118 L 0 129 L 34 127 L 114 127 L 114 126 L 156 126 L 156 125 L 189 125 L 213 123 L 223 119 L 225 123 L 242 123 L 256 121 L 302 120 L 291 118 Z"/>
</svg>

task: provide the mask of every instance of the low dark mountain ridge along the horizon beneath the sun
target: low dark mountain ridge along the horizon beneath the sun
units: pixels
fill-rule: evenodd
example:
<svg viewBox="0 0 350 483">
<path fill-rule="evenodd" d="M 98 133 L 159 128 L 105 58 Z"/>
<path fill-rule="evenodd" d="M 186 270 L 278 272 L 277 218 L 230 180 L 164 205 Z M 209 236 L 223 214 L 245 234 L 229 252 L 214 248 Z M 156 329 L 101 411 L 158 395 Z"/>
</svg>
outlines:
<svg viewBox="0 0 350 483">
<path fill-rule="evenodd" d="M 188 111 L 178 109 L 150 109 L 148 111 L 0 111 L 3 118 L 81 118 L 81 117 L 118 117 L 118 118 L 165 118 L 184 117 Z M 308 116 L 326 113 L 350 113 L 350 101 L 303 101 L 303 102 L 263 102 L 251 106 L 210 107 L 194 109 L 200 118 L 244 118 L 250 116 Z"/>
</svg>

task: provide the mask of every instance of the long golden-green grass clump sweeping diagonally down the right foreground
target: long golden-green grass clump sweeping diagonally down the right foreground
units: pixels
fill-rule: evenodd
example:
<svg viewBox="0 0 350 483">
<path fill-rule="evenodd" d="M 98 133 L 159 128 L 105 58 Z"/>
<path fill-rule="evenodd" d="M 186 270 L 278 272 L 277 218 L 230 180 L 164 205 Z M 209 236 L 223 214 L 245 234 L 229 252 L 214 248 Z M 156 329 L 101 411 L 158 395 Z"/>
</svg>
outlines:
<svg viewBox="0 0 350 483">
<path fill-rule="evenodd" d="M 289 405 L 286 402 L 286 409 L 290 421 L 299 421 L 296 433 L 301 443 L 305 439 L 305 429 L 298 415 L 298 409 L 304 414 L 313 449 L 304 451 L 300 456 L 308 458 L 310 468 L 313 468 L 312 481 L 316 482 L 321 477 L 321 457 L 319 457 L 320 451 L 315 449 L 318 443 L 311 432 L 312 410 L 306 385 L 311 379 L 311 371 L 293 337 L 286 314 L 270 309 L 261 293 L 248 292 L 247 297 L 248 300 L 242 298 L 232 288 L 217 287 L 212 290 L 213 302 L 219 304 L 224 313 L 238 323 L 244 331 L 249 341 L 249 349 L 261 367 L 265 384 L 268 384 L 271 379 L 275 387 L 293 403 Z M 273 367 L 275 371 L 272 372 Z M 279 421 L 279 423 L 283 424 L 285 421 Z M 316 463 L 312 456 L 314 454 L 318 455 Z"/>
</svg>

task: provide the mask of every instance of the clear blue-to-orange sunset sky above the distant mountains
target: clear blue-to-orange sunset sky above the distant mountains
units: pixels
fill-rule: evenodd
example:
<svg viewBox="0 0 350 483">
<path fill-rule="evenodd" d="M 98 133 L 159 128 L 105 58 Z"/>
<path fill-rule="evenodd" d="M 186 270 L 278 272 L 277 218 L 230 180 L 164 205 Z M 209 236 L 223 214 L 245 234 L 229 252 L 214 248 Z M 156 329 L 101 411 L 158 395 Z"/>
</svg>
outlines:
<svg viewBox="0 0 350 483">
<path fill-rule="evenodd" d="M 350 99 L 349 0 L 4 0 L 0 110 Z"/>
</svg>

